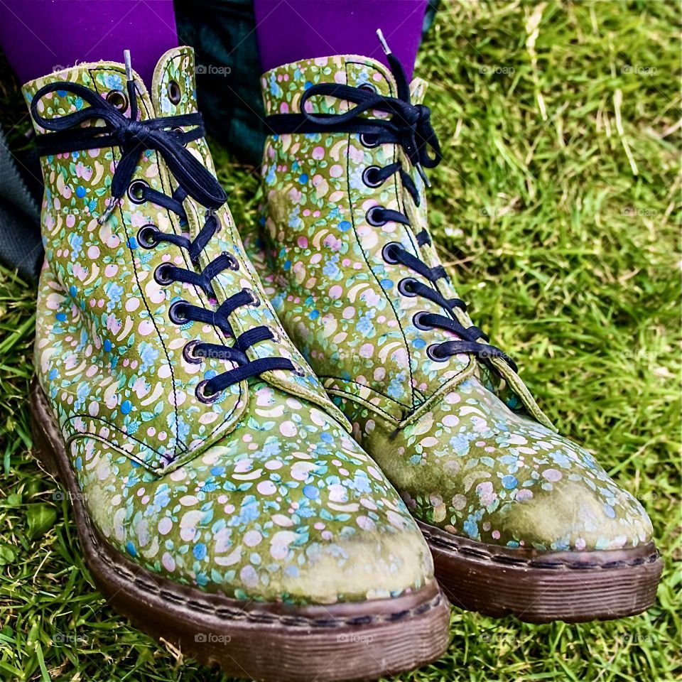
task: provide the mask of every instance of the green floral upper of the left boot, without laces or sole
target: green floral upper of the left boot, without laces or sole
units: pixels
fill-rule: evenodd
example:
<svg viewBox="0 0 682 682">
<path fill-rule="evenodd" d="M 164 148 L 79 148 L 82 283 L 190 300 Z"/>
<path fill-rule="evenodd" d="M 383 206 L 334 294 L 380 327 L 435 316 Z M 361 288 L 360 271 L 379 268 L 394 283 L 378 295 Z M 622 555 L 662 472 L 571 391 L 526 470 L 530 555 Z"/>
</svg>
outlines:
<svg viewBox="0 0 682 682">
<path fill-rule="evenodd" d="M 124 91 L 124 67 L 80 65 L 49 75 L 25 86 L 27 101 L 46 82 L 64 80 L 108 97 Z M 151 97 L 137 83 L 143 117 L 195 111 L 189 48 L 161 58 Z M 120 94 L 112 101 L 121 102 Z M 83 106 L 65 89 L 43 98 L 40 112 L 56 117 Z M 190 149 L 212 169 L 205 141 Z M 188 224 L 180 224 L 173 213 L 126 196 L 99 225 L 117 158 L 116 149 L 102 148 L 42 161 L 46 259 L 37 371 L 99 533 L 148 570 L 244 599 L 365 600 L 433 580 L 431 556 L 404 502 L 288 340 L 227 207 L 202 256 L 202 266 L 221 251 L 239 261 L 239 270 L 214 281 L 217 300 L 187 284 L 161 285 L 153 276 L 159 264 L 192 266 L 173 244 L 144 249 L 140 227 L 195 236 L 205 210 L 185 200 Z M 134 177 L 167 195 L 175 186 L 153 152 Z M 242 288 L 261 303 L 230 315 L 235 334 L 270 325 L 279 337 L 259 342 L 250 357 L 281 354 L 302 376 L 266 372 L 204 404 L 195 397 L 197 382 L 232 364 L 186 362 L 183 347 L 194 339 L 233 340 L 212 325 L 175 325 L 168 308 L 184 299 L 215 309 Z"/>
</svg>

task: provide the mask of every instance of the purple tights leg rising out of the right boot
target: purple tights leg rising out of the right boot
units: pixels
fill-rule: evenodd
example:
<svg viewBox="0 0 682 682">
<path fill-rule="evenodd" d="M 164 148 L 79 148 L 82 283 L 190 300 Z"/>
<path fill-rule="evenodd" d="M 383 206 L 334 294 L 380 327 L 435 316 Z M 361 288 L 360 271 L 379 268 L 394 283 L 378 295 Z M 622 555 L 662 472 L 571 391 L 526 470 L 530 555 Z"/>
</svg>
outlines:
<svg viewBox="0 0 682 682">
<path fill-rule="evenodd" d="M 408 78 L 414 69 L 426 0 L 254 0 L 261 66 L 361 55 L 386 63 L 381 28 Z"/>
</svg>

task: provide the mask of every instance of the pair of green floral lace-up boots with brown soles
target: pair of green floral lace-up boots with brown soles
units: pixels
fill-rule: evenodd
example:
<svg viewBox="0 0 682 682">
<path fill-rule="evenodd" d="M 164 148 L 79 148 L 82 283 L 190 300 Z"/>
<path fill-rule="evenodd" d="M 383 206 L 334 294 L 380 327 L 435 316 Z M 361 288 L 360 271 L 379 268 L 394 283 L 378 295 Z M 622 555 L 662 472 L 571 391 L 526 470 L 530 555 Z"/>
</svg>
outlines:
<svg viewBox="0 0 682 682">
<path fill-rule="evenodd" d="M 109 602 L 239 677 L 419 666 L 448 645 L 448 598 L 530 622 L 654 601 L 646 513 L 556 433 L 438 261 L 426 83 L 389 63 L 263 76 L 251 259 L 190 48 L 150 92 L 129 63 L 24 87 L 45 178 L 38 456 Z"/>
</svg>

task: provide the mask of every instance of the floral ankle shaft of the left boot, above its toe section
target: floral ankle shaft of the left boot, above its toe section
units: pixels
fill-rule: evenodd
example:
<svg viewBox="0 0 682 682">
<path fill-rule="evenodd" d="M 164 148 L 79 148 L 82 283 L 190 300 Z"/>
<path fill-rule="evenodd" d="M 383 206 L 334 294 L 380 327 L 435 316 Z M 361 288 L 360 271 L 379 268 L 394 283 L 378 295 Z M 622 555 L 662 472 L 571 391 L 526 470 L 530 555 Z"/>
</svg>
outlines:
<svg viewBox="0 0 682 682">
<path fill-rule="evenodd" d="M 196 114 L 193 74 L 193 51 L 178 48 L 161 58 L 150 93 L 134 74 L 134 89 L 129 89 L 124 65 L 99 63 L 28 83 L 24 94 L 31 104 L 36 93 L 47 87 L 44 96 L 36 99 L 38 121 L 34 122 L 39 138 L 54 146 L 49 137 L 53 132 L 39 123 L 47 121 L 45 125 L 50 127 L 69 114 L 86 112 L 92 106 L 87 92 L 124 117 L 129 118 L 136 108 L 143 124 Z M 85 87 L 87 92 L 78 87 L 74 92 L 66 85 L 53 91 L 51 84 L 58 82 Z M 131 96 L 136 98 L 136 107 L 131 106 Z M 106 110 L 102 115 L 110 114 Z M 247 409 L 246 380 L 227 386 L 217 399 L 206 401 L 197 394 L 202 381 L 237 368 L 234 362 L 222 359 L 220 352 L 217 357 L 197 360 L 191 352 L 197 340 L 220 349 L 245 333 L 251 335 L 251 344 L 244 349 L 248 362 L 274 357 L 281 366 L 286 360 L 293 364 L 293 371 L 274 368 L 263 372 L 266 381 L 338 416 L 262 293 L 227 205 L 207 207 L 187 195 L 175 178 L 178 168 L 180 172 L 190 168 L 187 173 L 191 177 L 185 178 L 185 185 L 199 185 L 195 193 L 202 197 L 202 183 L 197 178 L 206 178 L 200 171 L 215 175 L 205 140 L 186 141 L 195 129 L 194 122 L 182 125 L 184 119 L 176 120 L 181 125 L 174 132 L 185 136 L 182 146 L 191 156 L 178 161 L 178 150 L 164 153 L 167 140 L 161 141 L 161 149 L 144 148 L 141 143 L 126 191 L 115 203 L 114 175 L 117 168 L 129 163 L 125 152 L 134 146 L 125 135 L 156 134 L 158 128 L 150 132 L 151 125 L 143 131 L 129 126 L 131 132 L 117 133 L 120 145 L 107 138 L 112 144 L 101 148 L 65 153 L 49 149 L 51 153 L 41 161 L 46 256 L 36 334 L 41 384 L 58 411 L 67 438 L 97 435 L 153 472 L 170 470 L 194 458 L 234 428 Z M 103 123 L 97 117 L 85 119 L 84 114 L 84 121 L 76 127 Z M 200 168 L 192 170 L 193 163 Z M 217 185 L 215 178 L 212 182 Z M 213 192 L 217 195 L 222 190 L 217 185 Z M 184 236 L 186 243 L 196 239 L 209 220 L 217 221 L 214 238 L 193 254 L 193 261 L 188 249 L 178 246 L 178 239 Z M 175 235 L 178 243 L 150 243 L 144 235 L 158 234 L 154 230 Z M 207 286 L 167 281 L 163 274 L 168 266 L 205 273 L 221 254 L 227 254 L 222 258 L 229 259 L 231 266 L 206 281 Z M 229 323 L 218 323 L 217 308 L 242 291 L 248 293 L 243 305 L 229 313 Z M 206 321 L 184 320 L 184 302 L 209 311 Z M 269 332 L 258 331 L 264 328 Z"/>
</svg>

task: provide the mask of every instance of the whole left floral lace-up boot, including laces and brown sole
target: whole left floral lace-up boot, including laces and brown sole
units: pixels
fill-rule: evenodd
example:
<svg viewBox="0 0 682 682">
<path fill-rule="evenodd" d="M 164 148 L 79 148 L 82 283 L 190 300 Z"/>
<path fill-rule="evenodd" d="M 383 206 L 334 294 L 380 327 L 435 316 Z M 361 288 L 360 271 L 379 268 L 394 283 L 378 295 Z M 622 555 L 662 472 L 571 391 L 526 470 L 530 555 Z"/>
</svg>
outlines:
<svg viewBox="0 0 682 682">
<path fill-rule="evenodd" d="M 192 50 L 163 55 L 151 92 L 97 63 L 24 93 L 45 177 L 36 448 L 108 601 L 239 677 L 440 656 L 431 554 L 244 255 Z"/>
</svg>

